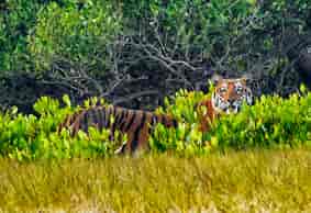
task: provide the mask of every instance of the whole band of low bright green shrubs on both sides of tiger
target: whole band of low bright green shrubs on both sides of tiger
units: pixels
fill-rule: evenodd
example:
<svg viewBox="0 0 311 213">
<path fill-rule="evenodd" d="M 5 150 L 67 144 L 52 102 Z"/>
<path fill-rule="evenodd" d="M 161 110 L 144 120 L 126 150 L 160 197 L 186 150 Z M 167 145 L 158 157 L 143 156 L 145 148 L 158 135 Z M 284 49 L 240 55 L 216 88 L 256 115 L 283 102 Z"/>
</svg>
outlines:
<svg viewBox="0 0 311 213">
<path fill-rule="evenodd" d="M 210 132 L 202 133 L 196 105 L 207 97 L 209 94 L 202 92 L 180 90 L 166 99 L 166 107 L 157 113 L 173 114 L 179 121 L 178 127 L 167 130 L 158 124 L 149 138 L 152 152 L 192 156 L 227 148 L 311 145 L 311 92 L 303 87 L 300 93 L 288 99 L 262 97 L 255 105 L 245 105 L 236 115 L 223 115 L 212 124 Z M 67 96 L 63 100 L 65 107 L 55 99 L 41 98 L 34 104 L 36 115 L 23 115 L 16 108 L 0 114 L 1 156 L 20 160 L 110 156 L 126 139 L 126 136 L 118 139 L 120 133 L 115 133 L 111 142 L 108 130 L 91 128 L 89 135 L 79 132 L 75 137 L 68 130 L 57 133 L 64 117 L 81 108 L 73 108 Z M 84 108 L 95 103 L 97 99 L 88 100 Z"/>
</svg>

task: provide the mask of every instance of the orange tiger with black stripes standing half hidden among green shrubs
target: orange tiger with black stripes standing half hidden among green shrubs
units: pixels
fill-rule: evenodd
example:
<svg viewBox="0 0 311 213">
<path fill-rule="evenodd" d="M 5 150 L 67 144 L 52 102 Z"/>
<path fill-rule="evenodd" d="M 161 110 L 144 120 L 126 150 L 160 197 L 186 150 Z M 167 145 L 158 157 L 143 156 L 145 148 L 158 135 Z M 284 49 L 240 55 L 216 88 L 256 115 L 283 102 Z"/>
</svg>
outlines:
<svg viewBox="0 0 311 213">
<path fill-rule="evenodd" d="M 237 113 L 244 101 L 247 104 L 252 104 L 253 101 L 252 91 L 246 86 L 246 78 L 224 79 L 221 76 L 213 76 L 212 80 L 215 87 L 211 99 L 202 100 L 196 109 L 202 132 L 208 132 L 211 122 L 220 114 Z M 206 110 L 202 110 L 202 107 Z M 111 122 L 111 116 L 114 117 L 114 122 Z M 69 127 L 71 135 L 76 135 L 79 130 L 88 132 L 90 126 L 100 130 L 108 128 L 111 134 L 118 130 L 126 134 L 127 139 L 115 150 L 115 154 L 133 154 L 136 150 L 149 149 L 148 137 L 158 123 L 165 127 L 176 128 L 178 126 L 178 121 L 169 114 L 115 105 L 99 105 L 68 115 L 58 126 L 58 131 Z"/>
</svg>

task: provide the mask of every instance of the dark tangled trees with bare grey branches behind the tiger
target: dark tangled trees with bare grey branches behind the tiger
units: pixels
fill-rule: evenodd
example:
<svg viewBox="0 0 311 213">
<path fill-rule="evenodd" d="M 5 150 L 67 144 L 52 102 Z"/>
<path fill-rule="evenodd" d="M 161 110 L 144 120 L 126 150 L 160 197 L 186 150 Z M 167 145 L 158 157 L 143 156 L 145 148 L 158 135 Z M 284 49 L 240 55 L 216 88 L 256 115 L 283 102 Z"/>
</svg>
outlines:
<svg viewBox="0 0 311 213">
<path fill-rule="evenodd" d="M 41 96 L 68 93 L 155 109 L 180 88 L 207 90 L 213 72 L 253 74 L 256 94 L 287 96 L 311 83 L 310 9 L 308 0 L 4 0 L 0 105 L 29 112 Z"/>
</svg>

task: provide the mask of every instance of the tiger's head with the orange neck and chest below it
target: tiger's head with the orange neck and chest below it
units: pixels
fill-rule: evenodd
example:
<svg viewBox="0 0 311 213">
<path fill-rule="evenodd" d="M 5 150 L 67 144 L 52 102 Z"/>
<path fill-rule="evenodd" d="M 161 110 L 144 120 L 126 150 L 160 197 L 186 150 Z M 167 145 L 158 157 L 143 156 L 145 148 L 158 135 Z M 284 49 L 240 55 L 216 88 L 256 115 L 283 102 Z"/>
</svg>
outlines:
<svg viewBox="0 0 311 213">
<path fill-rule="evenodd" d="M 211 123 L 221 114 L 240 112 L 244 102 L 247 105 L 253 104 L 253 92 L 247 86 L 249 79 L 249 76 L 227 79 L 219 75 L 212 77 L 214 90 L 211 98 L 197 104 L 201 132 L 208 132 Z"/>
</svg>

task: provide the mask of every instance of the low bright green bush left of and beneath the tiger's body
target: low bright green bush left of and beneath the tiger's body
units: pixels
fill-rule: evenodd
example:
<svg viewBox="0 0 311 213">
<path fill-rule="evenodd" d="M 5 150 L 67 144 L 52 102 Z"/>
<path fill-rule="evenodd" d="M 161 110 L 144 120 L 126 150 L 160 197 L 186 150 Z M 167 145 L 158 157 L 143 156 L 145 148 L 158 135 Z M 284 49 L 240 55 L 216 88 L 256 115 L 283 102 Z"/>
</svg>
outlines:
<svg viewBox="0 0 311 213">
<path fill-rule="evenodd" d="M 18 113 L 16 108 L 0 114 L 0 154 L 19 160 L 98 157 L 107 156 L 118 147 L 109 142 L 109 131 L 90 128 L 89 135 L 79 132 L 73 137 L 68 130 L 56 132 L 65 116 L 79 110 L 73 109 L 67 96 L 63 98 L 66 107 L 60 108 L 57 100 L 43 97 L 35 104 L 38 116 Z M 87 101 L 90 107 L 93 101 Z M 115 133 L 119 134 L 119 133 Z M 114 138 L 118 138 L 115 135 Z"/>
</svg>

